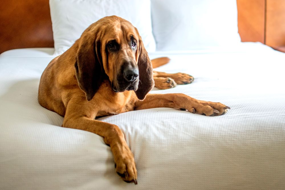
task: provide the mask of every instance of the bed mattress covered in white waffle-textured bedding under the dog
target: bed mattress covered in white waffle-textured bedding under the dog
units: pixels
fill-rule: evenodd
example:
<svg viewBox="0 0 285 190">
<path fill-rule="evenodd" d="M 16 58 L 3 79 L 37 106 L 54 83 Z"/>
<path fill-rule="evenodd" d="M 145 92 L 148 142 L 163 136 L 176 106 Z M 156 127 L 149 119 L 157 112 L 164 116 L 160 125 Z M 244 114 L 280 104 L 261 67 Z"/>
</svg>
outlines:
<svg viewBox="0 0 285 190">
<path fill-rule="evenodd" d="M 63 118 L 38 104 L 53 51 L 0 55 L 0 189 L 285 188 L 285 54 L 257 43 L 151 54 L 171 58 L 157 70 L 195 81 L 150 93 L 185 93 L 231 110 L 206 117 L 157 108 L 101 118 L 124 132 L 137 164 L 135 186 L 117 175 L 100 136 L 59 127 Z"/>
</svg>

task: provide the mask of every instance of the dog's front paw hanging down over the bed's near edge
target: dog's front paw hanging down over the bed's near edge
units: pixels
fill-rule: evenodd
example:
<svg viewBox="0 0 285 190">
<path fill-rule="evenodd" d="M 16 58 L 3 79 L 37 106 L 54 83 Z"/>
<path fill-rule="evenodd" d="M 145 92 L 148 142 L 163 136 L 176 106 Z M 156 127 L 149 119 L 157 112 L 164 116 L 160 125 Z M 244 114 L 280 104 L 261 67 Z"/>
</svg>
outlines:
<svg viewBox="0 0 285 190">
<path fill-rule="evenodd" d="M 121 146 L 115 154 L 115 168 L 119 176 L 127 183 L 135 183 L 137 185 L 137 169 L 134 155 L 128 146 Z"/>
</svg>

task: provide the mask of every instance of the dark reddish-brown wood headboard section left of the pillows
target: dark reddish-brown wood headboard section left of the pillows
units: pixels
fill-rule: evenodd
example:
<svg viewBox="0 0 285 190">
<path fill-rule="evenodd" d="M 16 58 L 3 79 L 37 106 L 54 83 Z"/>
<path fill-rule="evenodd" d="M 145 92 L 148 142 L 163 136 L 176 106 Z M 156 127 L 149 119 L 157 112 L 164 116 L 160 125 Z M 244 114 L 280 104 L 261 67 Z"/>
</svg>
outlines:
<svg viewBox="0 0 285 190">
<path fill-rule="evenodd" d="M 1 0 L 0 28 L 0 53 L 54 46 L 48 0 Z"/>
</svg>

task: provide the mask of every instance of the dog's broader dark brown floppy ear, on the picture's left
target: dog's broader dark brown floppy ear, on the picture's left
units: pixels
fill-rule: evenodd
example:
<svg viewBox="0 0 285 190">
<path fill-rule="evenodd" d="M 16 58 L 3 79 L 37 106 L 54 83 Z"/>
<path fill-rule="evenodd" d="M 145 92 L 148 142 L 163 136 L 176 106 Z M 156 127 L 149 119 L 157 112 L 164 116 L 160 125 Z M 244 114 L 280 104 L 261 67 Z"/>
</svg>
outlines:
<svg viewBox="0 0 285 190">
<path fill-rule="evenodd" d="M 78 85 L 90 101 L 98 91 L 103 77 L 101 43 L 94 32 L 84 32 L 76 55 L 76 78 Z"/>
</svg>

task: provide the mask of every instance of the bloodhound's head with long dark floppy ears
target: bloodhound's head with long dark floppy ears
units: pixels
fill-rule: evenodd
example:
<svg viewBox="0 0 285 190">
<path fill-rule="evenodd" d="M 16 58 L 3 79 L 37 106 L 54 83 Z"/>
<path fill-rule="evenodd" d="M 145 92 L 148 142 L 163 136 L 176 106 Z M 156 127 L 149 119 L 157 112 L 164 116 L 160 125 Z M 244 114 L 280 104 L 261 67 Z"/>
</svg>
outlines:
<svg viewBox="0 0 285 190">
<path fill-rule="evenodd" d="M 90 101 L 104 75 L 115 92 L 134 90 L 143 100 L 153 88 L 152 65 L 137 28 L 117 16 L 91 24 L 76 42 L 78 85 Z"/>
</svg>

